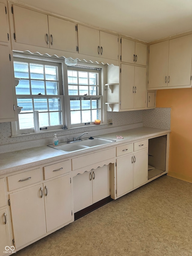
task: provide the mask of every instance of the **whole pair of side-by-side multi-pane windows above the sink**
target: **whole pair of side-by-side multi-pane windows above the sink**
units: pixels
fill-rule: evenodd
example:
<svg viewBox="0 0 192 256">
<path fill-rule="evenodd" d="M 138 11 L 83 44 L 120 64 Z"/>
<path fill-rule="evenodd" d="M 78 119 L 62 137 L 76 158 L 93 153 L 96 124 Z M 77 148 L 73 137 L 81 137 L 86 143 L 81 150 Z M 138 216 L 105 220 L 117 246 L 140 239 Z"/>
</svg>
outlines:
<svg viewBox="0 0 192 256">
<path fill-rule="evenodd" d="M 60 59 L 24 55 L 14 56 L 13 64 L 22 107 L 14 134 L 34 132 L 37 124 L 49 131 L 102 120 L 101 66 L 66 66 Z"/>
</svg>

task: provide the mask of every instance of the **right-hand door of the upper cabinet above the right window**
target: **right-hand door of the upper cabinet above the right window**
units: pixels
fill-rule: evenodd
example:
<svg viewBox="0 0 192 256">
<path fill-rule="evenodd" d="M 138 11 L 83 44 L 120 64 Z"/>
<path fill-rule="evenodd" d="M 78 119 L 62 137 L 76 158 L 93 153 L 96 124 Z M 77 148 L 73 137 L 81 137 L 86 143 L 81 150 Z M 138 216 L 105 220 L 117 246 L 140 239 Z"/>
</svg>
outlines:
<svg viewBox="0 0 192 256">
<path fill-rule="evenodd" d="M 100 51 L 101 57 L 105 59 L 118 60 L 119 37 L 110 33 L 100 31 Z"/>
</svg>

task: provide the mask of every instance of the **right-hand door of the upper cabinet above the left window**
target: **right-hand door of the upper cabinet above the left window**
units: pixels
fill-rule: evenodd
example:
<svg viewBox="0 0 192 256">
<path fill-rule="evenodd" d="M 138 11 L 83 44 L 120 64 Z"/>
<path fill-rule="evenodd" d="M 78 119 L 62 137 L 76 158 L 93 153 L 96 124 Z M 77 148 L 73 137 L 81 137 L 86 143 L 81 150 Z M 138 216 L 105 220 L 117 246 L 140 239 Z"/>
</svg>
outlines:
<svg viewBox="0 0 192 256">
<path fill-rule="evenodd" d="M 48 15 L 50 48 L 76 53 L 75 23 Z"/>
</svg>

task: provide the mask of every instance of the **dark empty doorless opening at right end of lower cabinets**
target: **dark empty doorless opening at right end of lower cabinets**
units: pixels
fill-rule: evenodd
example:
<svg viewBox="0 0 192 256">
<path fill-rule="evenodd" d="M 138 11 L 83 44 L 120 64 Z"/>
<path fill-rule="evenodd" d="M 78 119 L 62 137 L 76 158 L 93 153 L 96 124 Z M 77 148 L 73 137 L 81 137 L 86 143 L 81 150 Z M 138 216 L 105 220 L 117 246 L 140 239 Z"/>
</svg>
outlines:
<svg viewBox="0 0 192 256">
<path fill-rule="evenodd" d="M 166 170 L 167 135 L 149 139 L 148 180 Z"/>
</svg>

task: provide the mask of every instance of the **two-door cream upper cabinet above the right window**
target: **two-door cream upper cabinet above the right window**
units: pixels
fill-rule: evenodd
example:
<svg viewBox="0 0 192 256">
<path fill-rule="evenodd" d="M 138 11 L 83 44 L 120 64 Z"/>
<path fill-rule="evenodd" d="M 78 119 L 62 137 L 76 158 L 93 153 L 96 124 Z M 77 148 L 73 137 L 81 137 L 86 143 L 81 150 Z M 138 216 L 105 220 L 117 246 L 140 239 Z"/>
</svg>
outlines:
<svg viewBox="0 0 192 256">
<path fill-rule="evenodd" d="M 82 25 L 78 25 L 77 33 L 80 54 L 118 60 L 118 35 L 102 32 Z"/>
</svg>

